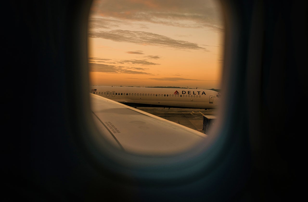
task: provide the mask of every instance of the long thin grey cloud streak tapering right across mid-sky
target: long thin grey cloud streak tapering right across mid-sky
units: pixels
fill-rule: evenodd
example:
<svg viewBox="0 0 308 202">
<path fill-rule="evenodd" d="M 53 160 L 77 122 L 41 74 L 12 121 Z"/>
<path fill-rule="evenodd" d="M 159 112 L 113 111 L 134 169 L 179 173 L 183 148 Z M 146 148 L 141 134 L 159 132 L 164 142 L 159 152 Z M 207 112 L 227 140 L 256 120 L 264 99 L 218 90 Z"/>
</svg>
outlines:
<svg viewBox="0 0 308 202">
<path fill-rule="evenodd" d="M 145 31 L 111 30 L 111 31 L 89 31 L 89 37 L 110 39 L 115 42 L 135 43 L 139 45 L 152 45 L 160 47 L 172 47 L 176 49 L 194 49 L 208 51 L 198 46 L 197 43 L 175 40 L 167 36 Z"/>
</svg>

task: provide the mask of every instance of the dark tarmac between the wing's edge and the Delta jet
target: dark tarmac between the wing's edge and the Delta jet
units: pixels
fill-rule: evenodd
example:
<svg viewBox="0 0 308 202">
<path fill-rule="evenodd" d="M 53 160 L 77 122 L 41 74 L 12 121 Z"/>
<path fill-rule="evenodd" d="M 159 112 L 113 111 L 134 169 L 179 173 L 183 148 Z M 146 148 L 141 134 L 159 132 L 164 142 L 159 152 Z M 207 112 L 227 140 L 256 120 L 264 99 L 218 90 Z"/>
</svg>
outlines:
<svg viewBox="0 0 308 202">
<path fill-rule="evenodd" d="M 203 115 L 217 115 L 218 109 L 182 109 L 182 108 L 157 108 L 137 107 L 144 112 L 162 117 L 169 121 L 179 123 L 193 130 L 203 131 Z"/>
</svg>

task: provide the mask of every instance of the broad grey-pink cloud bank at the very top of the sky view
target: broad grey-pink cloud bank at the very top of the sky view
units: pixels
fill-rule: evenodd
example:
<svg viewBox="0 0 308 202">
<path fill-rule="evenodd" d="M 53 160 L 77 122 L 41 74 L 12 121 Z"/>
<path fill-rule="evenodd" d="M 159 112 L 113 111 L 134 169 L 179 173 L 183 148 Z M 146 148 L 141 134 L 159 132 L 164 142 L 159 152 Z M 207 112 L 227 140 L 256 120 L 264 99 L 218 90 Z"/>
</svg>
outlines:
<svg viewBox="0 0 308 202">
<path fill-rule="evenodd" d="M 209 27 L 216 30 L 222 30 L 223 27 L 220 5 L 213 0 L 96 0 L 92 5 L 91 14 L 105 19 L 178 27 Z"/>
</svg>

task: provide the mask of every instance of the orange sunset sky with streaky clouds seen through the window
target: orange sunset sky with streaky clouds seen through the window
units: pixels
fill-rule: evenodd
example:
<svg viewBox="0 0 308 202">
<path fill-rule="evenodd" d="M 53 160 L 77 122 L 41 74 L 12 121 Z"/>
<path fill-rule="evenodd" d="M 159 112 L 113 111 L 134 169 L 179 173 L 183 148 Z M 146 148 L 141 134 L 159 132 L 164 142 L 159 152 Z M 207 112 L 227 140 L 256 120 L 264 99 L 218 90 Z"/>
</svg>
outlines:
<svg viewBox="0 0 308 202">
<path fill-rule="evenodd" d="M 221 87 L 216 0 L 94 0 L 88 22 L 90 85 Z"/>
</svg>

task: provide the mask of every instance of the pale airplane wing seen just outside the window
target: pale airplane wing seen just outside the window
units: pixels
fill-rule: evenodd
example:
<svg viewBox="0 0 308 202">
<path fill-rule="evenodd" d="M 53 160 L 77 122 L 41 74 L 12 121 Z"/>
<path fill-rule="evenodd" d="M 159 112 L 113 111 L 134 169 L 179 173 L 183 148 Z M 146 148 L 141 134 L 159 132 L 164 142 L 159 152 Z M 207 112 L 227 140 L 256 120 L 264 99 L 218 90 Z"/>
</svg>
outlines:
<svg viewBox="0 0 308 202">
<path fill-rule="evenodd" d="M 172 155 L 188 150 L 206 134 L 90 93 L 93 120 L 114 146 L 141 155 Z"/>
</svg>

